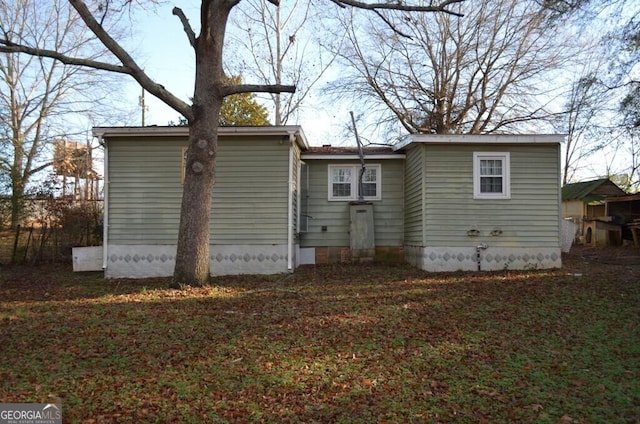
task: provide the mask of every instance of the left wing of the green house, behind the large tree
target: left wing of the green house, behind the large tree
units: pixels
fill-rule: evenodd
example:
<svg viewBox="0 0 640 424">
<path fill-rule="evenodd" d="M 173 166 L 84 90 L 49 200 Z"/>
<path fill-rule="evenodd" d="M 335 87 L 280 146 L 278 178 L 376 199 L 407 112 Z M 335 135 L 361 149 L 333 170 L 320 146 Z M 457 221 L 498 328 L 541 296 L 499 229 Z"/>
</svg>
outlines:
<svg viewBox="0 0 640 424">
<path fill-rule="evenodd" d="M 172 275 L 186 127 L 95 128 L 105 149 L 106 277 Z M 215 274 L 280 273 L 296 257 L 299 127 L 220 128 L 210 225 Z"/>
</svg>

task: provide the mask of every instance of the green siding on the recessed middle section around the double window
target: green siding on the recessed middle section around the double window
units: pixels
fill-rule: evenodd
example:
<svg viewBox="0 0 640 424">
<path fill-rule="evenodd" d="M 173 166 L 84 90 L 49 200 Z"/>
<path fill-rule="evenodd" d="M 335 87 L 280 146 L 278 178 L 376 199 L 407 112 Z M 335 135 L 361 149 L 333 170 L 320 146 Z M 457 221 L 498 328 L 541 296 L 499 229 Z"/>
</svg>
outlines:
<svg viewBox="0 0 640 424">
<path fill-rule="evenodd" d="M 358 161 L 306 158 L 308 169 L 308 231 L 300 235 L 301 247 L 349 246 L 349 201 L 328 200 L 329 165 L 359 165 Z M 404 159 L 375 159 L 382 170 L 382 198 L 373 200 L 377 246 L 402 246 Z M 326 226 L 326 231 L 322 227 Z"/>
</svg>

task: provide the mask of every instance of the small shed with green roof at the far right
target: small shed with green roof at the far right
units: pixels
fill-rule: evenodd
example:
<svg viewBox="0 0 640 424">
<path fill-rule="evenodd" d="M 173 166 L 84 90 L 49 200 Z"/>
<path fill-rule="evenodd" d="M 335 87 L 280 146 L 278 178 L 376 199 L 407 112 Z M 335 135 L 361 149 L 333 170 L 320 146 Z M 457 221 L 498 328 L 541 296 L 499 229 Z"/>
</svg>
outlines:
<svg viewBox="0 0 640 424">
<path fill-rule="evenodd" d="M 618 244 L 621 228 L 607 218 L 605 200 L 624 195 L 624 190 L 608 178 L 565 184 L 562 216 L 577 225 L 579 241 L 589 245 Z"/>
</svg>

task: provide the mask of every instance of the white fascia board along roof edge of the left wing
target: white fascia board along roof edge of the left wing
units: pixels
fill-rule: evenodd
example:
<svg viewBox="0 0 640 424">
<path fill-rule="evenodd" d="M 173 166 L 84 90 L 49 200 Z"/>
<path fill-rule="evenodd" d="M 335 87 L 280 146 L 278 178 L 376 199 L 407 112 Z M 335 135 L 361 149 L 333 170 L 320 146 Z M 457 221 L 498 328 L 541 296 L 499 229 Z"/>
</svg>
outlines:
<svg viewBox="0 0 640 424">
<path fill-rule="evenodd" d="M 93 136 L 98 138 L 118 137 L 187 137 L 189 127 L 94 127 Z M 301 149 L 309 148 L 307 138 L 298 125 L 264 126 L 264 127 L 220 127 L 218 136 L 295 136 L 296 143 Z"/>
</svg>

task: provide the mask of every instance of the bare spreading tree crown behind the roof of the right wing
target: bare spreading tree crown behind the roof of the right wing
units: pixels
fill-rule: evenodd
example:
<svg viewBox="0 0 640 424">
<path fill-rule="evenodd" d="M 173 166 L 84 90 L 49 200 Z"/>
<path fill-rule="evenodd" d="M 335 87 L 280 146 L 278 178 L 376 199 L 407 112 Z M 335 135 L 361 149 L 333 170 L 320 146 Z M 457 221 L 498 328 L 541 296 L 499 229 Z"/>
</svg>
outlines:
<svg viewBox="0 0 640 424">
<path fill-rule="evenodd" d="M 357 20 L 344 16 L 351 45 L 333 51 L 351 70 L 332 90 L 367 102 L 369 114 L 378 114 L 372 121 L 395 115 L 393 131 L 402 125 L 410 133 L 477 134 L 547 118 L 538 82 L 570 46 L 558 47 L 553 28 L 540 31 L 544 21 L 526 1 L 464 5 L 464 19 L 415 14 L 403 21 L 410 41 L 371 19 L 361 30 Z M 391 22 L 405 17 L 385 16 Z"/>
</svg>

